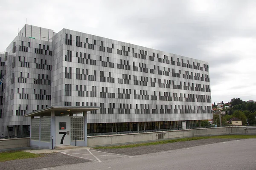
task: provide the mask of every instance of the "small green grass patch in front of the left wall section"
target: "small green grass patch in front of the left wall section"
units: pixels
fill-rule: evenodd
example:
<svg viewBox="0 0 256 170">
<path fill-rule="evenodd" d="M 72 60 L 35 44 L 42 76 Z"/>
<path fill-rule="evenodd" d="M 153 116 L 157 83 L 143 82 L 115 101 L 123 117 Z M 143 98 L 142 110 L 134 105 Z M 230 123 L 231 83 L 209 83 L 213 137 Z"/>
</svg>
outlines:
<svg viewBox="0 0 256 170">
<path fill-rule="evenodd" d="M 41 157 L 40 154 L 28 153 L 23 151 L 12 151 L 0 153 L 0 162 L 11 161 L 15 159 L 26 159 L 26 158 L 36 158 Z"/>
</svg>

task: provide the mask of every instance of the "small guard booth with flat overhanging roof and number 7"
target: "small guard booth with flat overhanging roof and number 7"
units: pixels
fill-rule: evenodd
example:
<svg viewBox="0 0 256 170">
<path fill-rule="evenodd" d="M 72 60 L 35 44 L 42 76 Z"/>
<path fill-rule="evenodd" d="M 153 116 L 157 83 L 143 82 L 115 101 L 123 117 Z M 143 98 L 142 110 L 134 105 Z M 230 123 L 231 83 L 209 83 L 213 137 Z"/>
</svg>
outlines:
<svg viewBox="0 0 256 170">
<path fill-rule="evenodd" d="M 30 146 L 87 146 L 87 111 L 100 107 L 50 106 L 24 115 L 31 117 Z"/>
</svg>

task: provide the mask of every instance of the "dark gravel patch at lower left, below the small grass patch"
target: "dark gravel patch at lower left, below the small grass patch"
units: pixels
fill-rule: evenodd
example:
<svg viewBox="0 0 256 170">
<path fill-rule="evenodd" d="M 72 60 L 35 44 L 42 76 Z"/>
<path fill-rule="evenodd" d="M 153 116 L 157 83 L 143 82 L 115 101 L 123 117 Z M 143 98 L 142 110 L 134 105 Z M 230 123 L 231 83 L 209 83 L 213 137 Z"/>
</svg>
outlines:
<svg viewBox="0 0 256 170">
<path fill-rule="evenodd" d="M 39 158 L 0 162 L 0 170 L 35 170 L 83 162 L 89 162 L 89 160 L 67 156 L 62 153 L 48 153 L 45 154 L 44 157 Z"/>
</svg>

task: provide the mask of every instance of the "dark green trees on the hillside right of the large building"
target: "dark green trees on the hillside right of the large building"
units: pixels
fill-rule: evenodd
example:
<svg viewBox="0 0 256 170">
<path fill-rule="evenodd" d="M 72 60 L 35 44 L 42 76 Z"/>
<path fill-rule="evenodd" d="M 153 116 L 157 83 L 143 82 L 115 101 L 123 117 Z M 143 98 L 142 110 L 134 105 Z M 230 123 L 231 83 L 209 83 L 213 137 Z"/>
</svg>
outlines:
<svg viewBox="0 0 256 170">
<path fill-rule="evenodd" d="M 221 124 L 228 125 L 228 122 L 231 118 L 236 117 L 241 119 L 242 125 L 247 125 L 247 119 L 249 125 L 256 125 L 256 103 L 255 102 L 245 102 L 240 98 L 231 99 L 227 104 L 223 104 L 222 111 L 225 111 L 225 114 L 221 115 Z M 225 108 L 224 106 L 230 106 L 229 108 Z M 217 105 L 212 106 L 212 108 L 217 109 Z M 218 112 L 218 111 L 217 111 Z M 219 115 L 213 115 L 213 123 L 215 125 L 220 125 Z"/>
</svg>

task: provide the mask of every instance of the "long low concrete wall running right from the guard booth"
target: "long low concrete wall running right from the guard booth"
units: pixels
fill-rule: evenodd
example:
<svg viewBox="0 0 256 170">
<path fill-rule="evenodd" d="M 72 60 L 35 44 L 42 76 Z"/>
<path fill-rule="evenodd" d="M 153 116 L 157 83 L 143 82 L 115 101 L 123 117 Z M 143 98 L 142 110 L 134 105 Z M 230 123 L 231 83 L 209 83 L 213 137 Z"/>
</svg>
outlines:
<svg viewBox="0 0 256 170">
<path fill-rule="evenodd" d="M 159 139 L 159 133 L 163 135 L 163 139 L 174 139 L 192 136 L 214 136 L 214 135 L 229 135 L 229 134 L 256 134 L 256 127 L 216 127 L 202 128 L 190 130 L 173 130 L 148 133 L 132 133 L 118 135 L 102 135 L 88 136 L 87 146 L 101 146 L 111 144 L 133 143 L 133 142 L 149 142 Z"/>
</svg>

